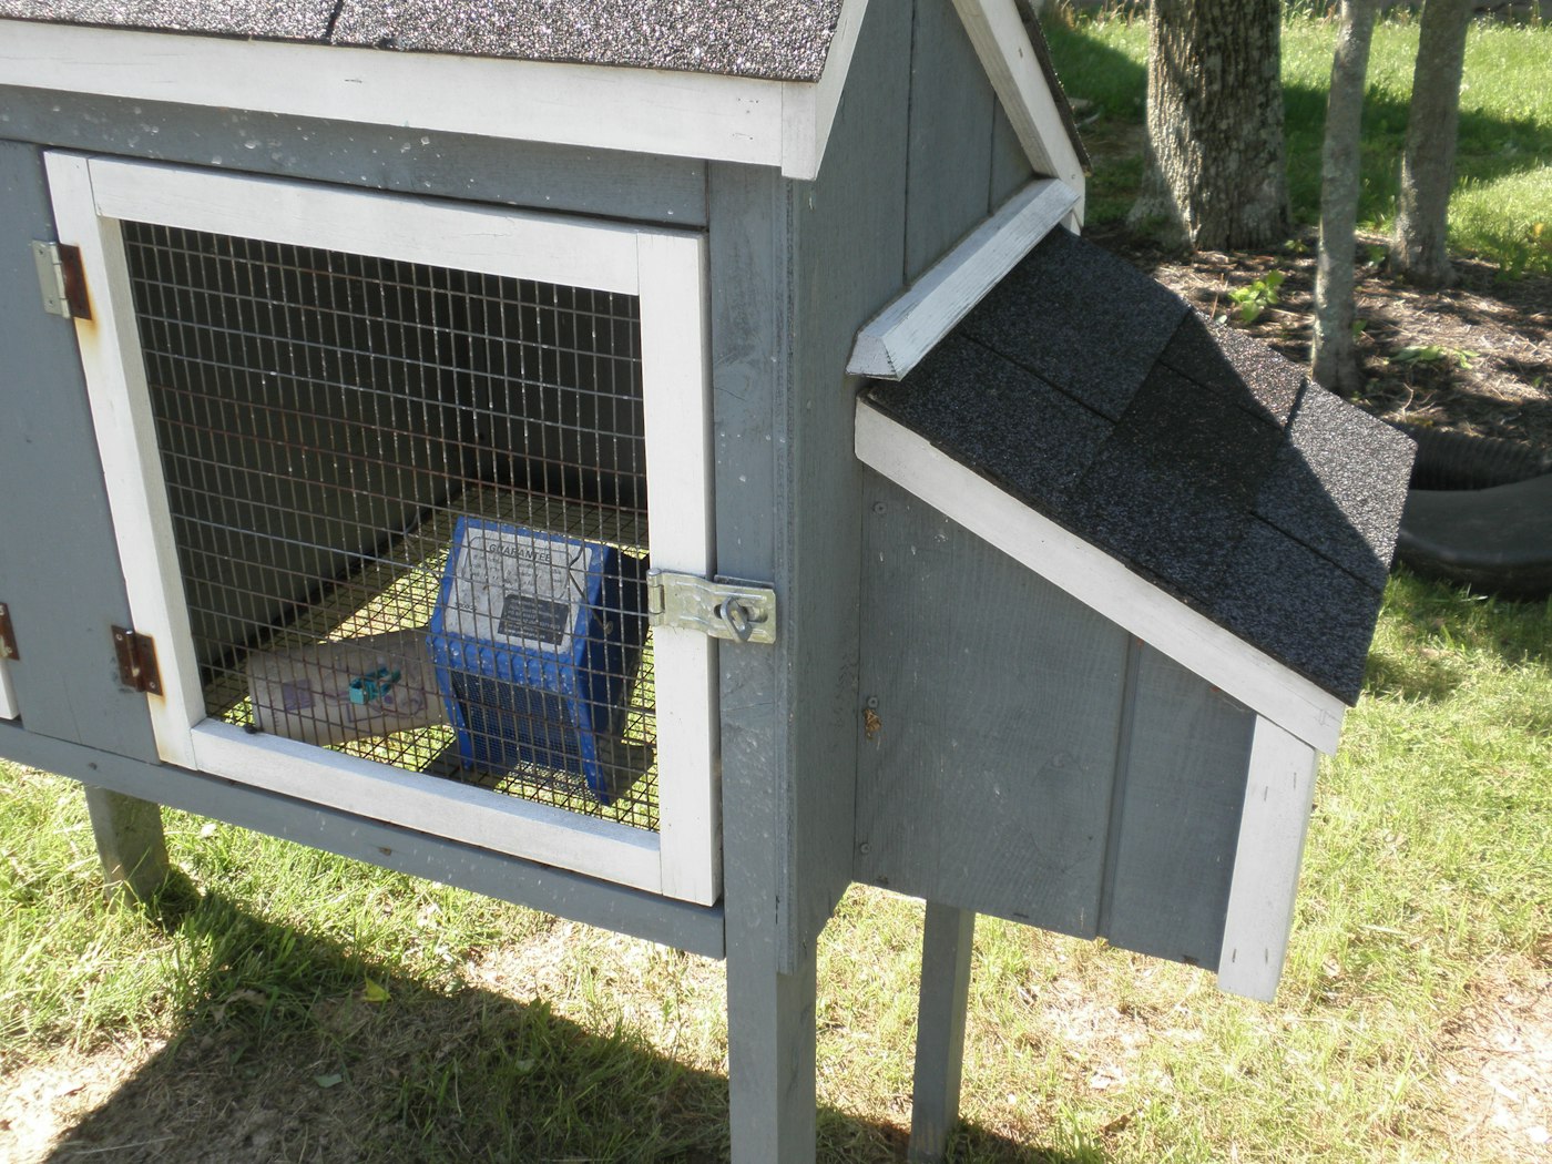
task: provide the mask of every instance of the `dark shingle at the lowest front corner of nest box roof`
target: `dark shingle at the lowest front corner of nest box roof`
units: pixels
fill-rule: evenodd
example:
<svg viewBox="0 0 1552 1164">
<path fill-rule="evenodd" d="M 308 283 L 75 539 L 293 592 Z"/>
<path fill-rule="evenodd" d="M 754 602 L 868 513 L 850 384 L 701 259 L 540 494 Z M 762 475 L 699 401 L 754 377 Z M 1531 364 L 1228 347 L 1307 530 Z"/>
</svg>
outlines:
<svg viewBox="0 0 1552 1164">
<path fill-rule="evenodd" d="M 1280 529 L 1254 521 L 1209 613 L 1338 698 L 1356 703 L 1380 596 Z"/>
</svg>

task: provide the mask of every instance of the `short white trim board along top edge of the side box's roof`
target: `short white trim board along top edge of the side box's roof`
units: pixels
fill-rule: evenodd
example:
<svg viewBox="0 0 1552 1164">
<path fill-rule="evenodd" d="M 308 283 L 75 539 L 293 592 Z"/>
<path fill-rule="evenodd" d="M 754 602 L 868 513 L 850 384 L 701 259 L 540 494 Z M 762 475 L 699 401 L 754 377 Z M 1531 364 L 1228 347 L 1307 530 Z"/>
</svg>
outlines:
<svg viewBox="0 0 1552 1164">
<path fill-rule="evenodd" d="M 1076 205 L 1065 182 L 1031 182 L 857 332 L 846 371 L 903 379 Z"/>
</svg>

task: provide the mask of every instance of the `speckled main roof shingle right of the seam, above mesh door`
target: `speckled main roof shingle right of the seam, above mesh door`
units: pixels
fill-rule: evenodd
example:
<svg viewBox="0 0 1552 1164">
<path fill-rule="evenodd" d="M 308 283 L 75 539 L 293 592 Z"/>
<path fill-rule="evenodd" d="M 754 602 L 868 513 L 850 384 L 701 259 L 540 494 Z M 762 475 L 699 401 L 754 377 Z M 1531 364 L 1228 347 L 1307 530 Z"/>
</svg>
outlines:
<svg viewBox="0 0 1552 1164">
<path fill-rule="evenodd" d="M 345 0 L 341 45 L 818 81 L 840 0 Z"/>
</svg>

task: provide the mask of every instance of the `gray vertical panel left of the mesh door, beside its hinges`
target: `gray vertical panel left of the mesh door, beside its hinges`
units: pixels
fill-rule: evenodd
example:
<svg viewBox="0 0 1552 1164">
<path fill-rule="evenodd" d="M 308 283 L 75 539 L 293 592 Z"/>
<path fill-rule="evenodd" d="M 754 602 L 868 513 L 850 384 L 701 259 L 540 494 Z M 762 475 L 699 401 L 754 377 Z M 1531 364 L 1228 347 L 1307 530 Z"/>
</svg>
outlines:
<svg viewBox="0 0 1552 1164">
<path fill-rule="evenodd" d="M 29 239 L 54 239 L 42 154 L 0 141 L 0 599 L 29 731 L 154 759 L 146 697 L 118 684 L 129 624 L 85 382 L 68 320 L 45 315 Z"/>
</svg>

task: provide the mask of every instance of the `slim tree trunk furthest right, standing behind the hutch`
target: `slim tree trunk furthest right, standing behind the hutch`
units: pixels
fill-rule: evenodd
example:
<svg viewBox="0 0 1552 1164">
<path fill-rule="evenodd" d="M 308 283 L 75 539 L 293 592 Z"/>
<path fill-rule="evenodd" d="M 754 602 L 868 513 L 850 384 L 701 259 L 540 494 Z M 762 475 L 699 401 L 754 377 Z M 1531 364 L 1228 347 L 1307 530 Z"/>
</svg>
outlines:
<svg viewBox="0 0 1552 1164">
<path fill-rule="evenodd" d="M 1423 8 L 1412 110 L 1401 155 L 1401 197 L 1391 244 L 1395 272 L 1423 287 L 1454 282 L 1445 244 L 1471 8 L 1471 0 L 1428 0 Z"/>
</svg>

